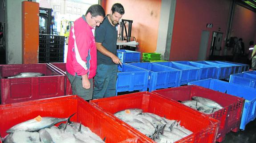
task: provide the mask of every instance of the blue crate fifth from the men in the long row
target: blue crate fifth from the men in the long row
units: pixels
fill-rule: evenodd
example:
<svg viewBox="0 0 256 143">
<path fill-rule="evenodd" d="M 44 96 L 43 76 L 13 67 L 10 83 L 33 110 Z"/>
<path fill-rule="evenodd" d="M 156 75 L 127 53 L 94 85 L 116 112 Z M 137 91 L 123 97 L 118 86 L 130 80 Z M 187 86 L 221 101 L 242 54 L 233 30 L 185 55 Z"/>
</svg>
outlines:
<svg viewBox="0 0 256 143">
<path fill-rule="evenodd" d="M 216 75 L 215 75 L 216 79 L 227 79 L 231 74 L 232 66 L 227 66 L 227 65 L 223 65 L 215 62 L 207 62 L 207 61 L 194 61 L 194 62 L 215 66 L 217 68 Z"/>
</svg>

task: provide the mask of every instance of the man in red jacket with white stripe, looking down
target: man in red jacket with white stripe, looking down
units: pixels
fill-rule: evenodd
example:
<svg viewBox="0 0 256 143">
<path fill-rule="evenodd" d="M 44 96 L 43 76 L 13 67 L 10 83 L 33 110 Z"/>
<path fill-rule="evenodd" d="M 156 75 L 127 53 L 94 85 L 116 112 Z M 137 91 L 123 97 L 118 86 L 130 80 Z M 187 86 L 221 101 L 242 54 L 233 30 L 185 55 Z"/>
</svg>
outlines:
<svg viewBox="0 0 256 143">
<path fill-rule="evenodd" d="M 74 95 L 92 99 L 93 77 L 97 69 L 97 49 L 93 30 L 105 18 L 102 6 L 94 4 L 78 18 L 69 33 L 66 70 Z"/>
</svg>

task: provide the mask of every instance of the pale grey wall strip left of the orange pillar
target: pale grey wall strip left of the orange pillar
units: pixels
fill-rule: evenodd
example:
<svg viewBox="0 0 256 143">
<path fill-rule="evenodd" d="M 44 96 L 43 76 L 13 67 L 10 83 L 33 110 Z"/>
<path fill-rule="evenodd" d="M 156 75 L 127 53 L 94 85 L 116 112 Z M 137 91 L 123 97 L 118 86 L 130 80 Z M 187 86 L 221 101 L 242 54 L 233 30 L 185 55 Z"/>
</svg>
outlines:
<svg viewBox="0 0 256 143">
<path fill-rule="evenodd" d="M 22 63 L 21 44 L 21 4 L 27 0 L 5 0 L 6 3 L 6 52 L 7 64 Z M 36 0 L 32 0 L 36 2 Z"/>
</svg>

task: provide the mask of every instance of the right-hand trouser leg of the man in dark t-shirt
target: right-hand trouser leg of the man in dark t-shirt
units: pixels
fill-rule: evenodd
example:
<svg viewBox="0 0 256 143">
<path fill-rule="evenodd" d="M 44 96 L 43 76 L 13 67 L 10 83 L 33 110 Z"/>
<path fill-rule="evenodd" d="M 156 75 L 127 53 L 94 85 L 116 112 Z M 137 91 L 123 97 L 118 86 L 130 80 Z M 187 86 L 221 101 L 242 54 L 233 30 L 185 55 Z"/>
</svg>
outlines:
<svg viewBox="0 0 256 143">
<path fill-rule="evenodd" d="M 104 97 L 114 97 L 116 95 L 116 82 L 118 74 L 118 65 L 111 65 L 108 74 L 109 83 Z M 124 79 L 125 80 L 125 79 Z"/>
</svg>

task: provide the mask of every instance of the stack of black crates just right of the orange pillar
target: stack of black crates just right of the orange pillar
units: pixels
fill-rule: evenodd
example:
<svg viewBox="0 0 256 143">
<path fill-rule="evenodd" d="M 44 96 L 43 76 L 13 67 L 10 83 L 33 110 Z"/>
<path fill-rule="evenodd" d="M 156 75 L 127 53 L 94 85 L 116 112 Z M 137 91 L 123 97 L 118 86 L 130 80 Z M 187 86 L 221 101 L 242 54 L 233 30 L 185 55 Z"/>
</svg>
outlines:
<svg viewBox="0 0 256 143">
<path fill-rule="evenodd" d="M 39 34 L 39 63 L 64 62 L 65 36 Z"/>
</svg>

